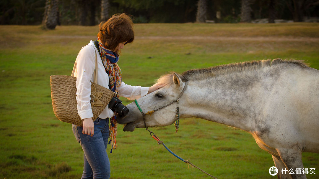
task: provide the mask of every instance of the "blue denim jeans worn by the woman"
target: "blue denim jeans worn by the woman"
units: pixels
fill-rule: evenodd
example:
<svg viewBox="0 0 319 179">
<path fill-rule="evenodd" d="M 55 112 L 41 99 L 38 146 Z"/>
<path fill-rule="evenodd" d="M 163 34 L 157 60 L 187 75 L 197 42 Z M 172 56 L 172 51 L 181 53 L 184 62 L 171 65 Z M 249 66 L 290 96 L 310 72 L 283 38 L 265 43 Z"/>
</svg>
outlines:
<svg viewBox="0 0 319 179">
<path fill-rule="evenodd" d="M 111 166 L 106 147 L 108 145 L 108 118 L 94 121 L 94 135 L 82 134 L 82 126 L 72 125 L 73 133 L 84 151 L 83 174 L 81 179 L 109 179 Z"/>
</svg>

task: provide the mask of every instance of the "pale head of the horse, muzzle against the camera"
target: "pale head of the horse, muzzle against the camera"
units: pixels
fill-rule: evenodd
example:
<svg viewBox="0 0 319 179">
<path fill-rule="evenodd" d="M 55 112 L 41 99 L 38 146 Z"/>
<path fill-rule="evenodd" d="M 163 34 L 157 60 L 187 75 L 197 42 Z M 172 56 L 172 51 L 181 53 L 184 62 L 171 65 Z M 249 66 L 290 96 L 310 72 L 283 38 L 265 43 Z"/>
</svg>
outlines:
<svg viewBox="0 0 319 179">
<path fill-rule="evenodd" d="M 187 83 L 176 73 L 162 76 L 157 83 L 163 84 L 164 87 L 128 104 L 126 106 L 129 109 L 128 115 L 117 118 L 119 124 L 125 124 L 123 131 L 134 131 L 135 127 L 143 128 L 145 125 L 168 126 L 176 121 L 176 102 L 179 99 L 180 104 L 184 103 L 183 98 L 186 95 L 182 97 L 180 95 L 184 93 Z M 170 103 L 171 105 L 168 105 Z"/>
</svg>

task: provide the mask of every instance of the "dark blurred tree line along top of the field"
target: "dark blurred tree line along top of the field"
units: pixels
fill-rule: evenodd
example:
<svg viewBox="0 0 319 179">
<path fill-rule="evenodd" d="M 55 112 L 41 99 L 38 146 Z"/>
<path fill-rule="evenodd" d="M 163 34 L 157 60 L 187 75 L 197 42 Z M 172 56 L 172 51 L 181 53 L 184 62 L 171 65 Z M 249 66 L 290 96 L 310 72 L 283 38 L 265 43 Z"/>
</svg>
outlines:
<svg viewBox="0 0 319 179">
<path fill-rule="evenodd" d="M 319 16 L 319 0 L 1 0 L 0 24 L 96 25 L 126 12 L 134 23 L 251 22 Z M 53 24 L 53 25 L 52 25 Z"/>
</svg>

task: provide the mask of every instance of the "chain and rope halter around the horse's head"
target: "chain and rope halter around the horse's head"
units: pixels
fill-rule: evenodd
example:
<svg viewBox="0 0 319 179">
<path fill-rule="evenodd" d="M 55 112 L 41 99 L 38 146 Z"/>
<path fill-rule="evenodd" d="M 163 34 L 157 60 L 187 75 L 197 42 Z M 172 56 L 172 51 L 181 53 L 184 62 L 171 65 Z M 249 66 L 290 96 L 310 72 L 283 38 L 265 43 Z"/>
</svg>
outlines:
<svg viewBox="0 0 319 179">
<path fill-rule="evenodd" d="M 187 87 L 187 84 L 188 84 L 188 81 L 185 82 L 185 86 L 184 86 L 182 92 L 180 93 L 180 95 L 178 96 L 177 100 L 174 100 L 174 101 L 172 101 L 171 103 L 169 103 L 169 104 L 167 104 L 167 105 L 165 105 L 165 106 L 163 106 L 163 107 L 160 107 L 160 108 L 158 108 L 158 109 L 155 109 L 155 110 L 153 110 L 153 111 L 148 111 L 147 113 L 143 113 L 141 107 L 140 107 L 140 106 L 138 105 L 138 103 L 137 103 L 137 100 L 134 100 L 136 106 L 138 107 L 139 111 L 140 111 L 140 112 L 142 113 L 142 115 L 143 115 L 143 122 L 144 122 L 145 129 L 146 129 L 147 131 L 149 131 L 150 133 L 152 133 L 152 132 L 148 129 L 148 127 L 146 126 L 146 123 L 145 123 L 145 116 L 146 116 L 147 114 L 150 114 L 150 115 L 151 115 L 151 114 L 153 114 L 155 111 L 158 111 L 158 110 L 160 110 L 160 109 L 163 109 L 163 108 L 165 108 L 165 107 L 167 107 L 167 106 L 173 104 L 174 102 L 177 102 L 177 107 L 176 107 L 176 109 L 175 109 L 177 119 L 176 119 L 176 121 L 175 121 L 175 123 L 174 123 L 174 125 L 175 125 L 175 133 L 177 133 L 178 128 L 179 128 L 179 118 L 180 118 L 180 112 L 179 112 L 178 102 L 179 102 L 179 98 L 182 97 L 182 95 L 183 95 L 183 93 L 184 93 L 184 91 L 185 91 L 185 89 L 186 89 L 186 87 Z"/>
</svg>

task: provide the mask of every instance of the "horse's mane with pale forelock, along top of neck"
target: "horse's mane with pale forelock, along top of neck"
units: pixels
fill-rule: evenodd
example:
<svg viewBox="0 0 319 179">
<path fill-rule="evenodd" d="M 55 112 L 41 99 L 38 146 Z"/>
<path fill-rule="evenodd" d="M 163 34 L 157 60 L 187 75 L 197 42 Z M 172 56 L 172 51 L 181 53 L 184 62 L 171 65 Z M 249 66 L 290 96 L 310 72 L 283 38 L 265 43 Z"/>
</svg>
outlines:
<svg viewBox="0 0 319 179">
<path fill-rule="evenodd" d="M 182 81 L 198 81 L 202 79 L 207 79 L 219 75 L 223 75 L 226 73 L 232 72 L 242 72 L 247 69 L 249 70 L 257 70 L 267 66 L 280 65 L 280 64 L 295 64 L 300 67 L 308 67 L 308 64 L 304 62 L 304 60 L 283 60 L 283 59 L 268 59 L 268 60 L 260 60 L 260 61 L 246 61 L 241 63 L 231 63 L 226 65 L 218 65 L 212 66 L 209 68 L 200 68 L 200 69 L 191 69 L 183 72 L 182 74 L 178 74 Z M 166 86 L 173 84 L 173 76 L 175 72 L 170 72 L 161 76 L 156 83 Z M 177 73 L 176 73 L 177 74 Z"/>
</svg>

